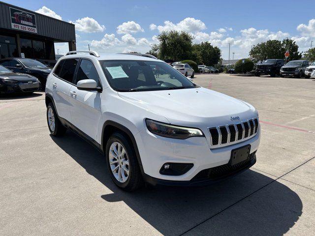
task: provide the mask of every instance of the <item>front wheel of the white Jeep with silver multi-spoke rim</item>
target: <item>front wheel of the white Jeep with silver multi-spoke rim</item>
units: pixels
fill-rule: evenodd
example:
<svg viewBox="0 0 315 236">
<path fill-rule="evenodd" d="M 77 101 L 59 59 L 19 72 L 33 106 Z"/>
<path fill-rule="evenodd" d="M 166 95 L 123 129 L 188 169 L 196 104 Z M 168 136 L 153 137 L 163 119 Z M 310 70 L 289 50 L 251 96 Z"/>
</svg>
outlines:
<svg viewBox="0 0 315 236">
<path fill-rule="evenodd" d="M 121 151 L 118 151 L 118 149 Z M 116 154 L 114 150 L 121 154 Z M 125 154 L 122 155 L 124 150 Z M 137 156 L 132 143 L 123 133 L 116 132 L 109 137 L 106 144 L 105 158 L 109 174 L 118 187 L 125 191 L 134 191 L 142 186 L 143 179 Z M 112 162 L 111 165 L 110 159 L 115 163 Z M 115 169 L 117 170 L 115 171 Z M 128 173 L 126 170 L 128 170 Z M 114 172 L 117 173 L 114 175 Z"/>
</svg>

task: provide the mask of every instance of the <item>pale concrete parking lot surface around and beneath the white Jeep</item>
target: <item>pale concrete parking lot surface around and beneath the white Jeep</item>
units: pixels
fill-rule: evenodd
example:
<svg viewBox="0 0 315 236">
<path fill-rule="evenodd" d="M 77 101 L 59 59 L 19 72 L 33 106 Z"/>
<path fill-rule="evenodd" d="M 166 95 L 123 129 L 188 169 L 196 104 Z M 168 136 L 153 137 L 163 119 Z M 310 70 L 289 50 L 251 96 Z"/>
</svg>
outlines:
<svg viewBox="0 0 315 236">
<path fill-rule="evenodd" d="M 0 235 L 315 235 L 315 80 L 196 75 L 259 112 L 257 163 L 199 188 L 120 190 L 103 156 L 50 136 L 45 96 L 0 97 Z"/>
</svg>

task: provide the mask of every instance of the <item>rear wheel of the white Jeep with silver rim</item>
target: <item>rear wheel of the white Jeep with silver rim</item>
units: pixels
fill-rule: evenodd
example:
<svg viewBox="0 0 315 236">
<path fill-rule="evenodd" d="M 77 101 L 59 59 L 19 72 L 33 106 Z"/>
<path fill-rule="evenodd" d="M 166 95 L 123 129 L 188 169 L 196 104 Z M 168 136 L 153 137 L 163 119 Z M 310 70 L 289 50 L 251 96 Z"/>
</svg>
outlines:
<svg viewBox="0 0 315 236">
<path fill-rule="evenodd" d="M 53 136 L 59 137 L 65 134 L 67 129 L 60 122 L 56 109 L 52 103 L 49 103 L 47 106 L 46 118 L 49 131 Z"/>
</svg>

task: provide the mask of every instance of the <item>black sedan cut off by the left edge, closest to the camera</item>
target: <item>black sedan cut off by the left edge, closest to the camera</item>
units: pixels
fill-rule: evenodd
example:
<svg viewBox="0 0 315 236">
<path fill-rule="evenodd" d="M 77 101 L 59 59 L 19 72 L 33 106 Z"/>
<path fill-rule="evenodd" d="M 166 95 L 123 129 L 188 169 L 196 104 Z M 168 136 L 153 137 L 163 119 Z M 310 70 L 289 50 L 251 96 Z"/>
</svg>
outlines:
<svg viewBox="0 0 315 236">
<path fill-rule="evenodd" d="M 41 89 L 40 82 L 32 75 L 13 73 L 0 65 L 0 94 L 13 92 L 35 92 Z"/>
</svg>

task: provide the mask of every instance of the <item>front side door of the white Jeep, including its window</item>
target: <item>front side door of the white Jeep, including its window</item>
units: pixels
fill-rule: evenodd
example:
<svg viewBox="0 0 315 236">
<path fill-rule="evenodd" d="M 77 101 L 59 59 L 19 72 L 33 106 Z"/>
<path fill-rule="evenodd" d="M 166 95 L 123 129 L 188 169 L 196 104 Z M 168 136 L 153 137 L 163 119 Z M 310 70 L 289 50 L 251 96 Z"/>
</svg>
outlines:
<svg viewBox="0 0 315 236">
<path fill-rule="evenodd" d="M 101 116 L 101 92 L 77 89 L 80 80 L 95 80 L 97 87 L 101 87 L 99 75 L 94 63 L 90 59 L 81 59 L 70 89 L 72 124 L 95 141 L 99 141 L 98 122 Z"/>
</svg>

